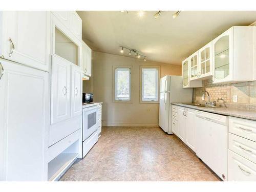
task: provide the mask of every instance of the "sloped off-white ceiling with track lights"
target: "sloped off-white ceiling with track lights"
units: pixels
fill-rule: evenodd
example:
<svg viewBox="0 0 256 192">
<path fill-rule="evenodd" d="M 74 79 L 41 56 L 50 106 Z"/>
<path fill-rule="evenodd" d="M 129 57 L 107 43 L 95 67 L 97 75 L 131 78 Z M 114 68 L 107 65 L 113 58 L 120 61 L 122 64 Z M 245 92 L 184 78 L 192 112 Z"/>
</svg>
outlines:
<svg viewBox="0 0 256 192">
<path fill-rule="evenodd" d="M 82 39 L 94 50 L 120 53 L 120 47 L 138 50 L 148 60 L 181 65 L 181 61 L 231 26 L 250 25 L 256 11 L 77 11 L 82 18 Z M 135 56 L 133 56 L 135 57 Z"/>
</svg>

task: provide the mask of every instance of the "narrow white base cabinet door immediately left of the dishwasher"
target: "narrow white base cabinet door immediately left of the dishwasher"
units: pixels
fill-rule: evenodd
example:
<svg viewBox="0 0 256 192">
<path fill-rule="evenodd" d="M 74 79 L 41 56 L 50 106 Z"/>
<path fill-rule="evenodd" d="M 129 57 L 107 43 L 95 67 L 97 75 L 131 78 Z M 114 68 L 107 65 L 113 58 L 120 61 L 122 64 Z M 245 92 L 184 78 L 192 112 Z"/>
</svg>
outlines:
<svg viewBox="0 0 256 192">
<path fill-rule="evenodd" d="M 186 111 L 186 144 L 193 150 L 196 151 L 196 139 L 195 139 L 195 113 L 194 111 Z"/>
</svg>

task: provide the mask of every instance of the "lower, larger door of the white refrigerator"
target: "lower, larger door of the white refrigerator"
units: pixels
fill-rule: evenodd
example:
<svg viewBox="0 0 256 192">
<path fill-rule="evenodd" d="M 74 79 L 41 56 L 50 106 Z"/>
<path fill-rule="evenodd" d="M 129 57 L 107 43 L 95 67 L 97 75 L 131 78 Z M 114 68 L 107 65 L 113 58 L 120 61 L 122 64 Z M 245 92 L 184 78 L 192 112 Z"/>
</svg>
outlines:
<svg viewBox="0 0 256 192">
<path fill-rule="evenodd" d="M 159 99 L 159 126 L 168 132 L 169 123 L 169 92 L 160 92 Z"/>
</svg>

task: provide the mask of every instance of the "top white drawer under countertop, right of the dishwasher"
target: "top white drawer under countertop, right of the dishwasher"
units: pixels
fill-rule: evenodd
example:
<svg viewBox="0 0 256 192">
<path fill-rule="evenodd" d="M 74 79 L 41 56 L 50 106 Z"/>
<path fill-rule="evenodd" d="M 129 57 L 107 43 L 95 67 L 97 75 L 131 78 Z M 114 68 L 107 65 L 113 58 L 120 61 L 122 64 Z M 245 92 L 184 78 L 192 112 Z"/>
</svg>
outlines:
<svg viewBox="0 0 256 192">
<path fill-rule="evenodd" d="M 256 141 L 256 121 L 229 117 L 229 132 Z"/>
</svg>

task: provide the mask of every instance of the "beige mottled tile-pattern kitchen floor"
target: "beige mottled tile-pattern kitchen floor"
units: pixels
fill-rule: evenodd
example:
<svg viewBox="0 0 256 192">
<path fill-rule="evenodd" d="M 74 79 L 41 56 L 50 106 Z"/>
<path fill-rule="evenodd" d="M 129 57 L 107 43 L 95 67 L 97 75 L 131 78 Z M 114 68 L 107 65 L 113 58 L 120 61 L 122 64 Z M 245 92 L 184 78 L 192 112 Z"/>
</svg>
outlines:
<svg viewBox="0 0 256 192">
<path fill-rule="evenodd" d="M 102 127 L 99 141 L 60 181 L 219 181 L 159 127 Z"/>
</svg>

